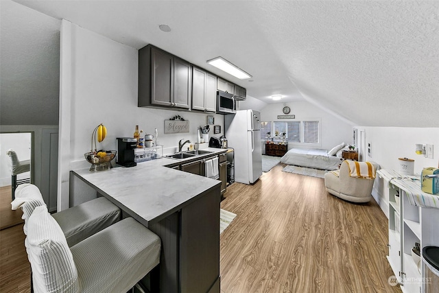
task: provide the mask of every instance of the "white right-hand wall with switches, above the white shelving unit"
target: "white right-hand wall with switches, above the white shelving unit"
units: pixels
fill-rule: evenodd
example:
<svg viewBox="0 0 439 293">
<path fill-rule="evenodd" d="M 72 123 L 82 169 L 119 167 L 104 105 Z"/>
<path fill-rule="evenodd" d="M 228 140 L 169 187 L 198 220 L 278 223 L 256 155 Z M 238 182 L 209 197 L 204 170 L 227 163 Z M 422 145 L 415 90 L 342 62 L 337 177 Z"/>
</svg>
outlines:
<svg viewBox="0 0 439 293">
<path fill-rule="evenodd" d="M 381 169 L 399 170 L 398 158 L 414 159 L 414 172 L 420 174 L 424 167 L 439 167 L 439 128 L 364 127 L 366 145 L 372 146 L 371 156 L 366 149 L 366 160 L 379 163 Z M 415 153 L 415 144 L 434 145 L 434 159 Z M 380 178 L 375 179 L 372 196 L 388 215 L 387 186 Z"/>
</svg>

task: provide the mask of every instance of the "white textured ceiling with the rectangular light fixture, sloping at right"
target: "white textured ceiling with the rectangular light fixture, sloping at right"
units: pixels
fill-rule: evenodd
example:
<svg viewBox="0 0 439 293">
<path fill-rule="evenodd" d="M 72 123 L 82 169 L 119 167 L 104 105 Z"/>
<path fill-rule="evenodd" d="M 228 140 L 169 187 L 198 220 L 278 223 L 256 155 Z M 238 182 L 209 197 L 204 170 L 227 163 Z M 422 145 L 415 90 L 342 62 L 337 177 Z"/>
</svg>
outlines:
<svg viewBox="0 0 439 293">
<path fill-rule="evenodd" d="M 439 126 L 437 1 L 16 2 L 137 49 L 152 43 L 263 102 L 306 99 L 361 126 Z M 216 56 L 253 81 L 206 65 Z"/>
</svg>

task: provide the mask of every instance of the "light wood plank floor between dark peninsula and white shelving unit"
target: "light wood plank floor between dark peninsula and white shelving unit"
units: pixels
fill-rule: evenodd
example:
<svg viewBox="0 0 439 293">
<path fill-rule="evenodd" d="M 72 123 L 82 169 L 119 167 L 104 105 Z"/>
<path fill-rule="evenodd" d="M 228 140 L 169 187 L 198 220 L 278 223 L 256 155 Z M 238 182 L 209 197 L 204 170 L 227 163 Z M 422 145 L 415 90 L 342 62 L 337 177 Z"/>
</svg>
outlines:
<svg viewBox="0 0 439 293">
<path fill-rule="evenodd" d="M 388 220 L 378 204 L 340 200 L 323 179 L 282 168 L 226 192 L 221 208 L 237 217 L 220 238 L 222 293 L 401 292 L 388 284 Z"/>
</svg>

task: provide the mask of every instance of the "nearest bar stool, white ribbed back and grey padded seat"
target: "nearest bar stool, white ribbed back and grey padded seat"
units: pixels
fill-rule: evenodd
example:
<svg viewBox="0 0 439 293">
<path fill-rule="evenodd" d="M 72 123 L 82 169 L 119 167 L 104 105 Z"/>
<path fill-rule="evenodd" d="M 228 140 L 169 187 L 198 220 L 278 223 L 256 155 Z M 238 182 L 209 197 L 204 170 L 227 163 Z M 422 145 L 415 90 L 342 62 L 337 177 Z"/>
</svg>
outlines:
<svg viewBox="0 0 439 293">
<path fill-rule="evenodd" d="M 27 224 L 35 292 L 127 292 L 160 261 L 161 239 L 133 218 L 71 248 L 47 207 L 36 207 Z"/>
</svg>

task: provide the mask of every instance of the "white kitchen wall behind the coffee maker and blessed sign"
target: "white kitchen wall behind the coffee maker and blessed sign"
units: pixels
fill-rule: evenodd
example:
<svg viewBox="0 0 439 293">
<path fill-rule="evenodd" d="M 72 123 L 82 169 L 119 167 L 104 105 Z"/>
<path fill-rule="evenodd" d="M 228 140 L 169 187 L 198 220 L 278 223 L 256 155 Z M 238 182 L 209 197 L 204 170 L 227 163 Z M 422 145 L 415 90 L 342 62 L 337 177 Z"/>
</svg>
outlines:
<svg viewBox="0 0 439 293">
<path fill-rule="evenodd" d="M 158 143 L 164 145 L 165 152 L 174 152 L 180 139 L 196 142 L 196 131 L 207 124 L 207 114 L 137 107 L 137 49 L 68 21 L 63 21 L 61 47 L 60 152 L 64 154 L 60 154 L 60 163 L 64 171 L 58 183 L 62 186 L 58 201 L 61 197 L 64 205 L 58 205 L 59 210 L 67 208 L 69 202 L 68 170 L 90 166 L 84 153 L 91 149 L 91 134 L 101 123 L 107 128 L 107 137 L 98 148 L 105 150 L 117 150 L 116 138 L 132 137 L 136 125 L 145 134 L 154 134 L 157 128 Z M 189 120 L 189 133 L 163 134 L 165 120 L 175 115 Z M 224 116 L 213 116 L 214 125 L 221 126 L 224 134 Z M 213 134 L 213 127 L 209 134 L 222 135 Z"/>
</svg>

